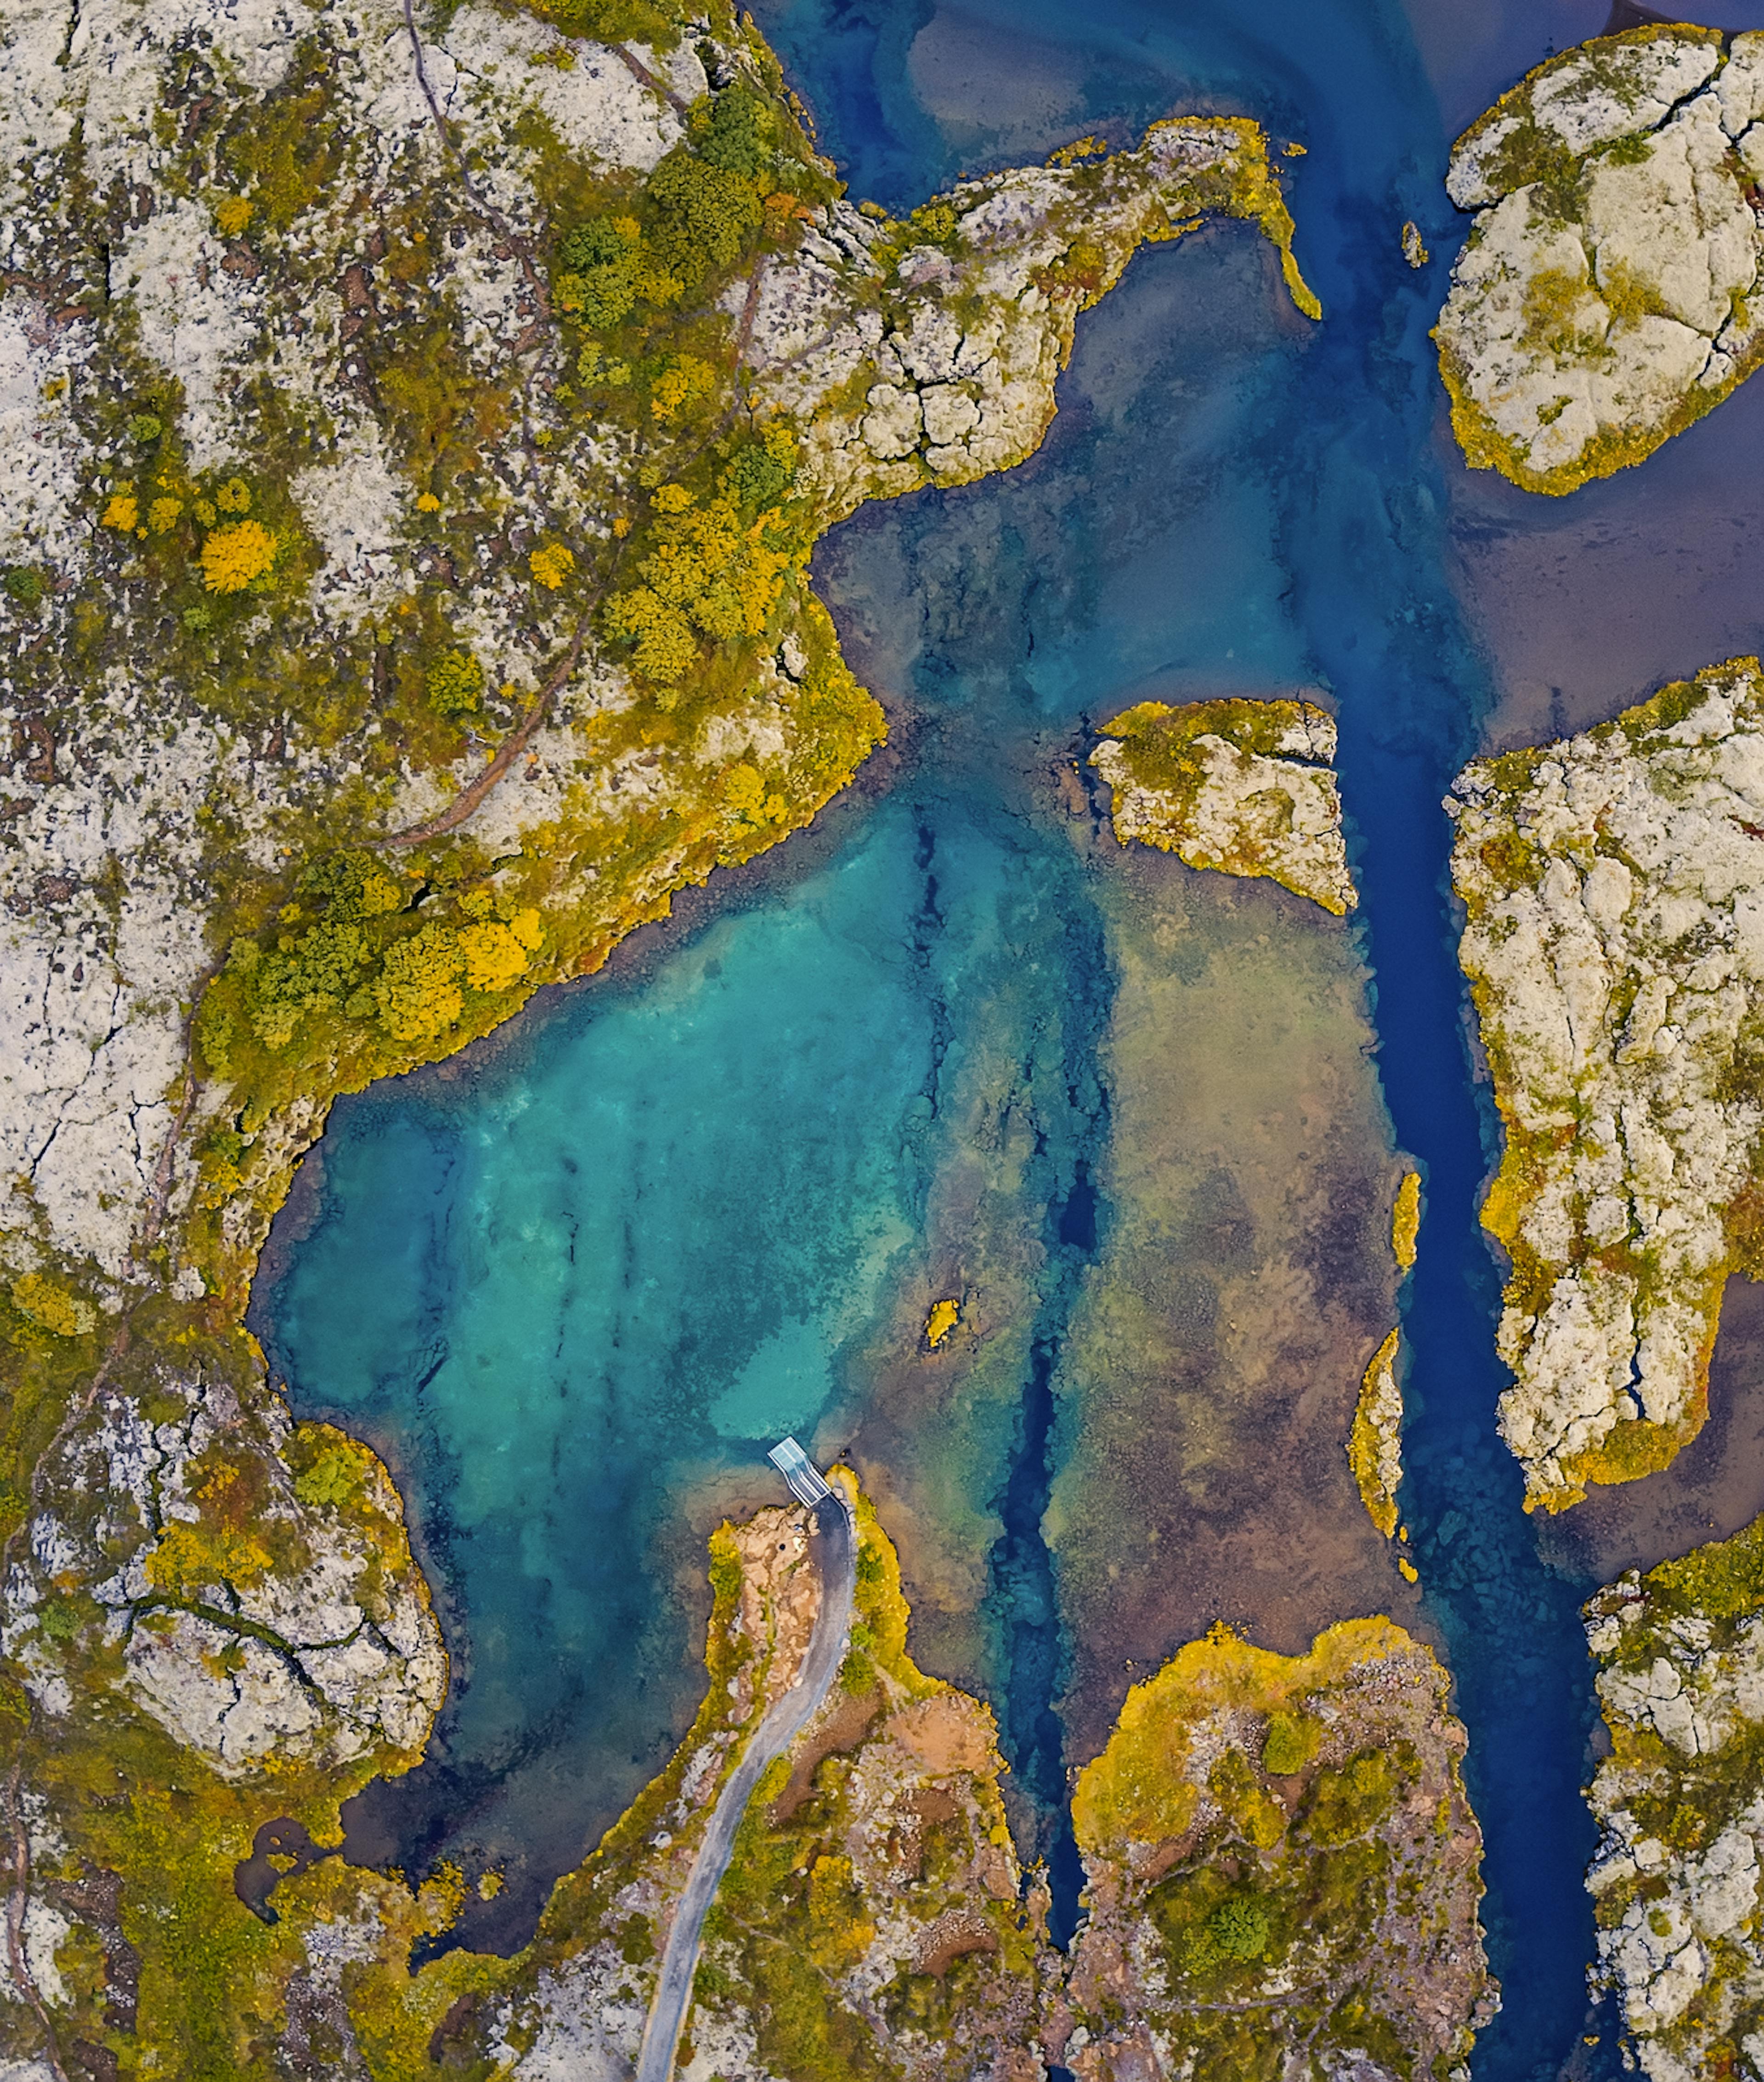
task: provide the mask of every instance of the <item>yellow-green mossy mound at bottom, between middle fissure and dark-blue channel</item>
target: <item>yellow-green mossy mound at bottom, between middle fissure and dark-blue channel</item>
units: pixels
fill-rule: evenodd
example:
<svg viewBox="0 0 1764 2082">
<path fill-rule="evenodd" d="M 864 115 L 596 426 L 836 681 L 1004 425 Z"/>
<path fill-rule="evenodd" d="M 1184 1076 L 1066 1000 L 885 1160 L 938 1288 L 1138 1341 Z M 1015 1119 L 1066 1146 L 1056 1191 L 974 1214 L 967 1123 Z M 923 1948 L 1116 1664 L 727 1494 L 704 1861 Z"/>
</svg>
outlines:
<svg viewBox="0 0 1764 2082">
<path fill-rule="evenodd" d="M 1137 1684 L 1073 1799 L 1089 1920 L 1066 1997 L 1091 2045 L 1150 2030 L 1173 2065 L 1256 2082 L 1297 2051 L 1447 2076 L 1493 1986 L 1445 1695 L 1389 1620 L 1293 1657 L 1218 1626 Z"/>
</svg>

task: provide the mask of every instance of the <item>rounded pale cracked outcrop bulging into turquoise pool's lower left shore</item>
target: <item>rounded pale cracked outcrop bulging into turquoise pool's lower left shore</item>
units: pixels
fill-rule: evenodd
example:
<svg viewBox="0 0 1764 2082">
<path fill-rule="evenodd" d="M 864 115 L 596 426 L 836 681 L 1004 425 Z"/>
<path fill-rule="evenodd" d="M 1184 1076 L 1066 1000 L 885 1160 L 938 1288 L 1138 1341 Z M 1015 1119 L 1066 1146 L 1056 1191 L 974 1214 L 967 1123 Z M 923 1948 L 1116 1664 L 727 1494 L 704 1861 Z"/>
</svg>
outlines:
<svg viewBox="0 0 1764 2082">
<path fill-rule="evenodd" d="M 112 1395 L 69 1437 L 54 1509 L 15 1551 L 0 1641 L 44 1707 L 90 1736 L 96 1680 L 229 1778 L 271 1757 L 414 1763 L 448 1659 L 385 1470 L 279 1403 L 246 1418 L 219 1380 L 154 1393 L 181 1414 Z M 54 1618 L 75 1584 L 79 1628 Z"/>
</svg>

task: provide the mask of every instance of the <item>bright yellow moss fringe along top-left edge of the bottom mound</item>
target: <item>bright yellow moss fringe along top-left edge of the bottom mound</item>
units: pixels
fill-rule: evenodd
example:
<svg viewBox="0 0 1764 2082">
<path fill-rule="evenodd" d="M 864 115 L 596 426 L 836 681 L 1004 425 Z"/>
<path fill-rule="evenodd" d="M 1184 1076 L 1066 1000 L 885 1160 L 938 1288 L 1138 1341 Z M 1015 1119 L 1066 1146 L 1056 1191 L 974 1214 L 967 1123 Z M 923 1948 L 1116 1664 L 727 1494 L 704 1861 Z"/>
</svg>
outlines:
<svg viewBox="0 0 1764 2082">
<path fill-rule="evenodd" d="M 1079 1772 L 1073 1826 L 1079 1849 L 1118 1855 L 1127 1843 L 1181 1836 L 1200 1805 L 1189 1778 L 1189 1730 L 1212 1713 L 1272 1713 L 1287 1701 L 1339 1682 L 1358 1664 L 1412 1653 L 1391 1620 L 1343 1620 L 1318 1634 L 1308 1655 L 1275 1655 L 1214 1626 L 1143 1684 L 1135 1684 L 1104 1753 Z"/>
</svg>

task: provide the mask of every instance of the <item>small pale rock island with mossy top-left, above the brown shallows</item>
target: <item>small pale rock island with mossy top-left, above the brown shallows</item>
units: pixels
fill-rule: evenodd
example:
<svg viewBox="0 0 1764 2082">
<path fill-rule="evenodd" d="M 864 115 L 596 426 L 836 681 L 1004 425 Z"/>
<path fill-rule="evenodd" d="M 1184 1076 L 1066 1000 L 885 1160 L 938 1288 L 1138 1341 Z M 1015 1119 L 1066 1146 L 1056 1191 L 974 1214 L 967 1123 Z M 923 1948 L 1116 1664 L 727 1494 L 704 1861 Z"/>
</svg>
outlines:
<svg viewBox="0 0 1764 2082">
<path fill-rule="evenodd" d="M 1341 835 L 1335 718 L 1312 702 L 1141 702 L 1104 725 L 1091 766 L 1114 835 L 1191 868 L 1266 874 L 1337 918 L 1358 902 Z"/>
</svg>

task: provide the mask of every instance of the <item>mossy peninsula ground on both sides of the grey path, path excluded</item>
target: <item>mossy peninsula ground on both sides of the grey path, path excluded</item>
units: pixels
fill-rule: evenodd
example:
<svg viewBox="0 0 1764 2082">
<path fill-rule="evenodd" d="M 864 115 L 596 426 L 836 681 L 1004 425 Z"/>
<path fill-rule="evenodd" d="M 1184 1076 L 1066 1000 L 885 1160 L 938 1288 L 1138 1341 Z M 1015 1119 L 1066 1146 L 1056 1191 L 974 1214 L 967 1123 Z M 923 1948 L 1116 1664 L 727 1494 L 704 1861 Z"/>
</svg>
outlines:
<svg viewBox="0 0 1764 2082">
<path fill-rule="evenodd" d="M 329 1453 L 319 1449 L 308 1484 L 333 1480 Z M 923 2074 L 939 2049 L 954 2061 L 973 2047 L 1031 2042 L 1045 1957 L 1043 1897 L 1033 1893 L 1027 1913 L 1018 1899 L 991 1716 L 906 1655 L 893 1547 L 850 1472 L 833 1480 L 860 1526 L 852 1655 L 821 1720 L 754 1793 L 687 2020 L 687 2034 L 721 2020 L 758 2034 L 771 2072 L 802 2082 Z M 629 2063 L 658 1963 L 656 1907 L 685 1884 L 723 1776 L 806 1641 L 804 1526 L 798 1509 L 766 1509 L 712 1534 L 704 1705 L 669 1768 L 558 1882 L 514 1959 L 454 1951 L 410 1972 L 412 1936 L 458 1913 L 467 1882 L 456 1872 L 414 1901 L 339 1861 L 277 1886 L 277 1930 L 327 1922 L 348 1932 L 356 1963 L 337 2007 L 375 2078 L 429 2072 L 444 2020 L 448 2072 L 504 2074 L 492 2042 L 560 2057 L 546 1999 L 558 1984 L 579 1992 L 587 2047 Z M 229 1992 L 267 2013 L 277 1938 L 248 1915 L 240 1928 L 254 1949 L 229 1967 Z M 881 1982 L 879 1938 L 891 1963 Z M 569 2045 L 581 2055 L 579 2036 Z"/>
</svg>

